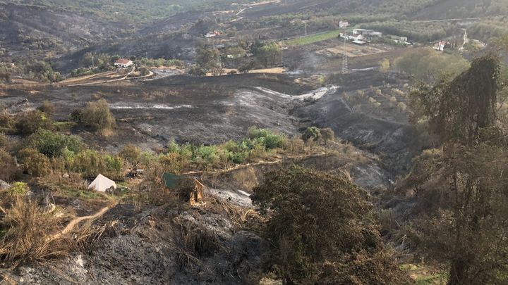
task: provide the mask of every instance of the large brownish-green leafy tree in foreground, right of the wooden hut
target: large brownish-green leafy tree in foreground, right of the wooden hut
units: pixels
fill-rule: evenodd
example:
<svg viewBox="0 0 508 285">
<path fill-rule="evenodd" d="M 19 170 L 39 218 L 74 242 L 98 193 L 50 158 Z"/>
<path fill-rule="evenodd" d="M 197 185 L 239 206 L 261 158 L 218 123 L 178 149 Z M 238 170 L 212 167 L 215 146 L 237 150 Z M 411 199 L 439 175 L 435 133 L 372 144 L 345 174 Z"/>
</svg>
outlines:
<svg viewBox="0 0 508 285">
<path fill-rule="evenodd" d="M 294 166 L 267 173 L 253 191 L 286 284 L 406 283 L 350 179 Z"/>
</svg>

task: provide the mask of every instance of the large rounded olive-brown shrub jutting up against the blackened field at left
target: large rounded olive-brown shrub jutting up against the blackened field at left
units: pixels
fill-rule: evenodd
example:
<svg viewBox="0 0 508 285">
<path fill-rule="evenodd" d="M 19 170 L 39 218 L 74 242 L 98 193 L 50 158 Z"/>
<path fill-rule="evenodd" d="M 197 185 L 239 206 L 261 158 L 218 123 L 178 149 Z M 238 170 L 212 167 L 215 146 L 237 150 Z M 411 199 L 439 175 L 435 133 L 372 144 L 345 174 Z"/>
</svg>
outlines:
<svg viewBox="0 0 508 285">
<path fill-rule="evenodd" d="M 109 104 L 104 99 L 89 102 L 81 113 L 81 122 L 103 134 L 111 131 L 116 124 L 115 118 L 109 110 Z"/>
</svg>

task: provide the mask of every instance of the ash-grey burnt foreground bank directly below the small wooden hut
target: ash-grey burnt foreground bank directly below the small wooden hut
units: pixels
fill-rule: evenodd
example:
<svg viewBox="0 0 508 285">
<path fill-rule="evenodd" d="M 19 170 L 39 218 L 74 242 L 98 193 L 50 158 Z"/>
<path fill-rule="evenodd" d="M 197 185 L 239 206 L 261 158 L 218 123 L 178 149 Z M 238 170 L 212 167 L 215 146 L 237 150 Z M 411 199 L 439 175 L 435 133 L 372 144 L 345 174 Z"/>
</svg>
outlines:
<svg viewBox="0 0 508 285">
<path fill-rule="evenodd" d="M 243 284 L 266 249 L 260 236 L 213 207 L 123 209 L 109 236 L 88 251 L 21 266 L 11 278 L 19 284 Z"/>
</svg>

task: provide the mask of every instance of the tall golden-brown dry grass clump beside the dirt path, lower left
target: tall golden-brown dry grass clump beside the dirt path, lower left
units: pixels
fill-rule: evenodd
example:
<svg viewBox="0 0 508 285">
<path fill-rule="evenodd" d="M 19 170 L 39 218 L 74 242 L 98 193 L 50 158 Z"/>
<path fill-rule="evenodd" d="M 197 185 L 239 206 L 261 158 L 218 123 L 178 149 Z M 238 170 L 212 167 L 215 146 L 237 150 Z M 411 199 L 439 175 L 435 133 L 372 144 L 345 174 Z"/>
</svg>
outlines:
<svg viewBox="0 0 508 285">
<path fill-rule="evenodd" d="M 58 234 L 65 228 L 63 222 L 68 215 L 58 208 L 40 208 L 23 198 L 17 198 L 11 208 L 1 211 L 5 214 L 2 226 L 6 233 L 0 245 L 0 260 L 6 267 L 63 258 L 73 251 L 90 248 L 104 235 L 116 234 L 115 222 L 92 227 L 92 220 L 77 232 Z"/>
</svg>

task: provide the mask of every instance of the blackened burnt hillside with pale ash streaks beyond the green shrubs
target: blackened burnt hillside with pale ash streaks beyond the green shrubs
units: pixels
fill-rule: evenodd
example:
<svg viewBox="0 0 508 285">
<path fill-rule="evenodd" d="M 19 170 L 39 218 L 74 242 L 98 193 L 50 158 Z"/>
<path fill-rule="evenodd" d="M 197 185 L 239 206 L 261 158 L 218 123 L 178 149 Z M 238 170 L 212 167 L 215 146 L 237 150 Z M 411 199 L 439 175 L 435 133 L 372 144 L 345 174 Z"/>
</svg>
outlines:
<svg viewBox="0 0 508 285">
<path fill-rule="evenodd" d="M 242 139 L 254 125 L 289 136 L 318 126 L 332 127 L 340 139 L 356 146 L 368 145 L 369 150 L 393 155 L 397 161 L 410 158 L 413 133 L 407 115 L 398 112 L 387 99 L 391 95 L 386 95 L 406 83 L 400 75 L 377 71 L 329 75 L 329 84 L 320 88 L 302 86 L 296 80 L 298 77 L 290 75 L 179 75 L 85 87 L 12 87 L 4 89 L 0 104 L 16 113 L 47 100 L 56 107 L 55 120 L 70 120 L 73 110 L 104 98 L 117 119 L 116 132 L 97 137 L 79 126 L 72 132 L 107 151 L 117 151 L 128 143 L 159 149 L 173 139 L 223 143 Z M 384 95 L 373 94 L 373 89 L 382 89 Z M 358 90 L 375 97 L 381 106 L 373 108 L 366 98 L 357 106 L 344 101 L 344 94 L 354 95 Z"/>
</svg>

